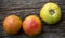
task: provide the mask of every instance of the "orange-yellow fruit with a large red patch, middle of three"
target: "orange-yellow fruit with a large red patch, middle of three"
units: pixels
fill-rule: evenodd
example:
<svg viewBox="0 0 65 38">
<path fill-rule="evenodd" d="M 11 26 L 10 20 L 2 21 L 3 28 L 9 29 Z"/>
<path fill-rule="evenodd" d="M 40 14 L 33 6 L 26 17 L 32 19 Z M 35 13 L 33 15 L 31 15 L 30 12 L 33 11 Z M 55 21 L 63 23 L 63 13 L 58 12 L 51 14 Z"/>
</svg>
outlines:
<svg viewBox="0 0 65 38">
<path fill-rule="evenodd" d="M 23 29 L 28 36 L 36 36 L 41 31 L 41 21 L 36 15 L 29 15 L 23 22 Z"/>
</svg>

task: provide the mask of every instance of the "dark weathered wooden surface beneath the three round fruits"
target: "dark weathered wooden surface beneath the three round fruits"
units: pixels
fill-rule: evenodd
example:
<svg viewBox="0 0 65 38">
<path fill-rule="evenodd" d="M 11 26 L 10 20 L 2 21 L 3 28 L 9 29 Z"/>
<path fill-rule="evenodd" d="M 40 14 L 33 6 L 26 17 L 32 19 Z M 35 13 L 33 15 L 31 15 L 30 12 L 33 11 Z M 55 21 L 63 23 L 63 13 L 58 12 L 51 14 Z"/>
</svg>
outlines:
<svg viewBox="0 0 65 38">
<path fill-rule="evenodd" d="M 62 20 L 48 25 L 42 22 L 42 33 L 35 37 L 29 37 L 21 31 L 18 35 L 6 35 L 2 27 L 2 21 L 10 14 L 15 14 L 24 20 L 27 15 L 39 16 L 39 11 L 43 4 L 50 0 L 0 0 L 0 38 L 65 38 L 65 0 L 52 0 L 62 9 Z"/>
</svg>

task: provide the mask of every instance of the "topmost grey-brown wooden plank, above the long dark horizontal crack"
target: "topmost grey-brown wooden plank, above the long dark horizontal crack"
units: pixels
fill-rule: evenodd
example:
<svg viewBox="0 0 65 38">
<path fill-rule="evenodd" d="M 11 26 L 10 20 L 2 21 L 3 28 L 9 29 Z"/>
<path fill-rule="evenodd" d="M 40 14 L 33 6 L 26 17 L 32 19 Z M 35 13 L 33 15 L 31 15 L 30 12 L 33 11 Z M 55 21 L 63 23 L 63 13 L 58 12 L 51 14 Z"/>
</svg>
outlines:
<svg viewBox="0 0 65 38">
<path fill-rule="evenodd" d="M 56 0 L 57 1 L 57 0 Z M 65 0 L 52 1 L 57 4 L 65 4 Z M 2 0 L 0 8 L 5 9 L 16 9 L 16 8 L 40 8 L 46 2 L 50 2 L 49 0 Z"/>
</svg>

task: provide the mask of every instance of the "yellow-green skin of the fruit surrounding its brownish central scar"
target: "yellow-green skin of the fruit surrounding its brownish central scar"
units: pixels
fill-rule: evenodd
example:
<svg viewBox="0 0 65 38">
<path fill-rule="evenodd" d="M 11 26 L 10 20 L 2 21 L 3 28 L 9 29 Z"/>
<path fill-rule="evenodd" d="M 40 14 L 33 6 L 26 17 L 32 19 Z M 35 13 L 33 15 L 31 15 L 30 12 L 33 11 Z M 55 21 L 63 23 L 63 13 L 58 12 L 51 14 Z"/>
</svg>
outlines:
<svg viewBox="0 0 65 38">
<path fill-rule="evenodd" d="M 53 15 L 50 14 L 49 10 L 53 9 L 55 13 Z M 61 9 L 57 4 L 49 2 L 42 7 L 40 10 L 40 17 L 47 24 L 55 24 L 62 17 Z"/>
</svg>

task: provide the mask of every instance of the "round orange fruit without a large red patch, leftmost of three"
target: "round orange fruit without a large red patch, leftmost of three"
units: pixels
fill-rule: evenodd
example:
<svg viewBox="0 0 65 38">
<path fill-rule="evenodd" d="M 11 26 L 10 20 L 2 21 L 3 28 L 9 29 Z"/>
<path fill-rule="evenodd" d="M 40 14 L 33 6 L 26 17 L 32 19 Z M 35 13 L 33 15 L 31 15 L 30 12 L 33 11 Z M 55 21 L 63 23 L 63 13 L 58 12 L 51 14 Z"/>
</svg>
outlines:
<svg viewBox="0 0 65 38">
<path fill-rule="evenodd" d="M 6 16 L 3 21 L 3 29 L 9 35 L 15 35 L 20 31 L 22 20 L 16 15 Z"/>
</svg>

